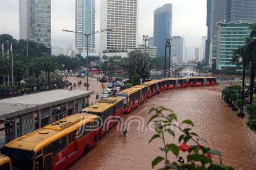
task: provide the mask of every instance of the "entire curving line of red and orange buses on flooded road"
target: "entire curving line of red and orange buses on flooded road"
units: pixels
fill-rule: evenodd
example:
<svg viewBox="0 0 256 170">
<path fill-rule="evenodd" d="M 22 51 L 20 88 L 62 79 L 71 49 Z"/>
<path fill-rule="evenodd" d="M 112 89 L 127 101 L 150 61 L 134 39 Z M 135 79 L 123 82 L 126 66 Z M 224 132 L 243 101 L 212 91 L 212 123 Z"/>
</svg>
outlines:
<svg viewBox="0 0 256 170">
<path fill-rule="evenodd" d="M 88 153 L 96 142 L 142 102 L 174 88 L 216 85 L 215 77 L 166 78 L 133 86 L 5 144 L 0 170 L 63 170 Z"/>
</svg>

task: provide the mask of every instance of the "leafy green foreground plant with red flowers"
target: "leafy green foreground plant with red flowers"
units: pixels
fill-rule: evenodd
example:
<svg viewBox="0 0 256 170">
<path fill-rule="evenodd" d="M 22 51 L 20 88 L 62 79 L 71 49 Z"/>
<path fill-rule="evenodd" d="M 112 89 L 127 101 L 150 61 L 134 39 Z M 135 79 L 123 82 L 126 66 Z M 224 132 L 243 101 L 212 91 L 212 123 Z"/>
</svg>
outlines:
<svg viewBox="0 0 256 170">
<path fill-rule="evenodd" d="M 167 111 L 168 114 L 163 113 L 163 111 Z M 194 127 L 194 123 L 191 120 L 184 120 L 178 126 L 177 115 L 172 110 L 160 106 L 151 108 L 150 113 L 152 112 L 155 114 L 150 118 L 148 124 L 154 120 L 156 134 L 151 137 L 149 143 L 157 138 L 162 139 L 163 147 L 160 150 L 165 155 L 164 157 L 156 157 L 151 163 L 152 168 L 159 164 L 159 162 L 165 161 L 164 167 L 161 170 L 234 170 L 234 168 L 222 164 L 221 152 L 203 146 L 206 140 L 199 138 L 195 132 L 192 132 L 191 128 L 183 127 L 184 124 Z M 179 136 L 179 146 L 174 143 L 167 143 L 166 139 L 169 138 L 169 135 L 175 138 L 175 132 L 170 127 L 176 127 L 182 132 L 181 136 Z M 180 151 L 187 155 L 184 164 L 178 161 L 171 161 L 168 158 L 169 152 L 178 157 Z M 218 162 L 213 161 L 216 158 L 218 158 Z"/>
</svg>

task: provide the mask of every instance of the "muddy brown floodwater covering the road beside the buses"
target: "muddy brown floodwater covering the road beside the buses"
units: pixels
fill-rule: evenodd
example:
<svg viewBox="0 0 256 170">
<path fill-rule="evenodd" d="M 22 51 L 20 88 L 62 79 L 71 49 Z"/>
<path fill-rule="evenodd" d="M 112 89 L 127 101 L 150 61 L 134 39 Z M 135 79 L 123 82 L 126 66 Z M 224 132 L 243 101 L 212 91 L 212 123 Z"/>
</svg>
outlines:
<svg viewBox="0 0 256 170">
<path fill-rule="evenodd" d="M 150 119 L 148 110 L 159 105 L 172 109 L 179 122 L 191 119 L 200 137 L 205 138 L 207 146 L 218 149 L 222 153 L 223 162 L 238 169 L 252 170 L 256 167 L 256 134 L 246 126 L 246 119 L 238 118 L 221 100 L 221 86 L 175 89 L 164 91 L 150 98 L 146 103 L 124 115 L 124 119 L 141 116 L 145 122 Z M 110 130 L 96 146 L 81 157 L 70 170 L 142 170 L 151 169 L 151 161 L 163 153 L 159 151 L 161 140 L 148 144 L 154 132 L 140 123 L 132 122 L 126 139 L 120 138 L 116 126 Z M 178 133 L 178 132 L 177 132 Z M 169 142 L 177 139 L 168 138 Z M 174 157 L 171 157 L 174 159 Z M 157 167 L 157 168 L 160 168 Z"/>
</svg>

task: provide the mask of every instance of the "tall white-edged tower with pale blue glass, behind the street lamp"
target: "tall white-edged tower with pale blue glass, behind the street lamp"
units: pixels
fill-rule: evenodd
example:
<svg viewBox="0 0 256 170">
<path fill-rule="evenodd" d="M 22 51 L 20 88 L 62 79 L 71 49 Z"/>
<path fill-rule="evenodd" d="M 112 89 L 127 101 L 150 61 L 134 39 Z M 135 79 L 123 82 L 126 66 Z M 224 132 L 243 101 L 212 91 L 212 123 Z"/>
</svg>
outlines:
<svg viewBox="0 0 256 170">
<path fill-rule="evenodd" d="M 76 0 L 75 1 L 75 31 L 90 34 L 95 32 L 95 0 Z M 88 37 L 82 34 L 75 34 L 76 53 L 85 53 L 84 49 L 88 46 L 89 52 L 95 52 L 95 35 Z"/>
</svg>

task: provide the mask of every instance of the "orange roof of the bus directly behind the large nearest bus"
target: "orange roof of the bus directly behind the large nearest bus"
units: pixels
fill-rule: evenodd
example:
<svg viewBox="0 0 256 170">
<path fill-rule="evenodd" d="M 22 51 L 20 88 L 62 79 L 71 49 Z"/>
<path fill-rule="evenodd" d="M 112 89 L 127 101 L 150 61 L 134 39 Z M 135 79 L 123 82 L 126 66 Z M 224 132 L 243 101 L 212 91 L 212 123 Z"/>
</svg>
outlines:
<svg viewBox="0 0 256 170">
<path fill-rule="evenodd" d="M 91 106 L 84 108 L 82 111 L 83 112 L 103 113 L 105 110 L 112 107 L 115 103 L 123 101 L 123 100 L 124 100 L 123 98 L 115 98 L 115 97 L 105 98 L 105 99 L 100 100 L 99 102 L 94 103 Z"/>
</svg>

